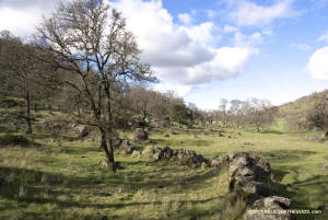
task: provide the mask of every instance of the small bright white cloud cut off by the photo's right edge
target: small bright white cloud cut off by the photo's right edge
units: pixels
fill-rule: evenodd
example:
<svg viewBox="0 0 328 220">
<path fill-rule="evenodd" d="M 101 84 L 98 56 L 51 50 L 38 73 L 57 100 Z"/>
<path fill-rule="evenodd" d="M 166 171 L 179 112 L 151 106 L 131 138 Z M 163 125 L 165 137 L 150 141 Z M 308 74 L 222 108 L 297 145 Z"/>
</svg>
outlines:
<svg viewBox="0 0 328 220">
<path fill-rule="evenodd" d="M 309 58 L 307 70 L 314 79 L 328 80 L 328 46 L 317 49 Z"/>
</svg>

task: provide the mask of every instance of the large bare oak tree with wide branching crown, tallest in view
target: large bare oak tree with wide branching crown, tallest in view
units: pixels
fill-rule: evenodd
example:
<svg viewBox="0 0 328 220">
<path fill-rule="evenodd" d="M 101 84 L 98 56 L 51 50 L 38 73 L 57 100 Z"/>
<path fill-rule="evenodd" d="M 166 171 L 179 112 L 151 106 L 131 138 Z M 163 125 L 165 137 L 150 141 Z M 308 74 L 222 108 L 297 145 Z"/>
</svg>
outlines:
<svg viewBox="0 0 328 220">
<path fill-rule="evenodd" d="M 115 172 L 112 88 L 119 81 L 154 79 L 150 66 L 140 61 L 133 34 L 127 31 L 121 14 L 109 11 L 103 0 L 60 3 L 37 31 L 40 49 L 54 53 L 58 67 L 79 79 L 79 83 L 70 77 L 65 80 L 85 97 L 92 112 L 92 117 L 79 123 L 98 128 L 108 169 Z"/>
</svg>

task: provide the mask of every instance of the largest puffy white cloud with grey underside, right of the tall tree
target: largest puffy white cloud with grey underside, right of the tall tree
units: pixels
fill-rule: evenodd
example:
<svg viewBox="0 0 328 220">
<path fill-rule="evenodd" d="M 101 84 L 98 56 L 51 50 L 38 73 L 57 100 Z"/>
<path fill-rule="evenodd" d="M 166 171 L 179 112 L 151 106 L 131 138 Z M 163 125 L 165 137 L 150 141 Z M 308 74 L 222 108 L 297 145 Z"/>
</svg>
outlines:
<svg viewBox="0 0 328 220">
<path fill-rule="evenodd" d="M 212 22 L 190 25 L 192 14 L 179 14 L 183 24 L 177 24 L 160 0 L 118 0 L 112 5 L 127 18 L 142 59 L 172 84 L 189 86 L 235 76 L 256 54 L 248 45 L 218 47 L 221 35 Z"/>
</svg>

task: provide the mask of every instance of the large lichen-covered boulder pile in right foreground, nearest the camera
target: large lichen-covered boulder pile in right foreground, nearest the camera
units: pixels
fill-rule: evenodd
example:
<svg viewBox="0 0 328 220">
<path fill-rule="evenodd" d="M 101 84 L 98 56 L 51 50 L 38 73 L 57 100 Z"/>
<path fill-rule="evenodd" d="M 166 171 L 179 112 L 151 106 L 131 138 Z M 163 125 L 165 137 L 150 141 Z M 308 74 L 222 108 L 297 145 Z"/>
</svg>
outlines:
<svg viewBox="0 0 328 220">
<path fill-rule="evenodd" d="M 244 201 L 244 220 L 295 219 L 285 211 L 292 200 L 270 196 L 271 166 L 262 158 L 250 153 L 226 153 L 210 160 L 212 167 L 227 167 L 229 189 Z"/>
</svg>

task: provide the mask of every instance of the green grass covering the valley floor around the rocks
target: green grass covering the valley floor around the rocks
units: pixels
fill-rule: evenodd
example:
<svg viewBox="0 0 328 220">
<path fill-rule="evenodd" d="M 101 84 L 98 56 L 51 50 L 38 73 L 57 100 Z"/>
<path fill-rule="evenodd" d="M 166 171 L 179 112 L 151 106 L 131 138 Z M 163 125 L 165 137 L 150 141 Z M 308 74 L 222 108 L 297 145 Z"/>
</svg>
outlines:
<svg viewBox="0 0 328 220">
<path fill-rule="evenodd" d="M 156 146 L 192 149 L 207 158 L 258 153 L 270 162 L 279 182 L 274 193 L 292 198 L 293 209 L 328 205 L 328 173 L 321 172 L 328 144 L 314 141 L 315 134 L 276 128 L 241 131 L 242 136 L 232 131 L 227 138 L 219 137 L 218 129 L 176 131 L 165 138 L 154 130 L 150 138 Z M 109 174 L 98 165 L 104 153 L 97 142 L 46 134 L 28 140 L 0 144 L 0 219 L 233 219 L 237 211 L 224 172 L 116 154 L 124 169 Z M 315 218 L 325 219 L 298 217 Z"/>
</svg>

